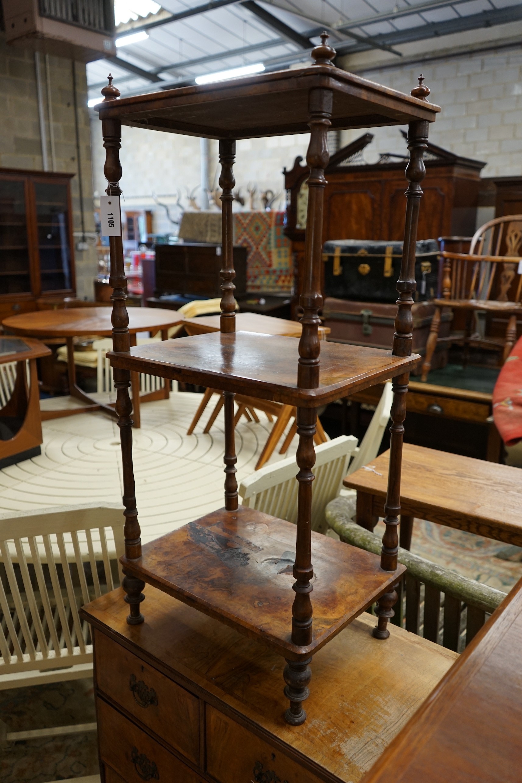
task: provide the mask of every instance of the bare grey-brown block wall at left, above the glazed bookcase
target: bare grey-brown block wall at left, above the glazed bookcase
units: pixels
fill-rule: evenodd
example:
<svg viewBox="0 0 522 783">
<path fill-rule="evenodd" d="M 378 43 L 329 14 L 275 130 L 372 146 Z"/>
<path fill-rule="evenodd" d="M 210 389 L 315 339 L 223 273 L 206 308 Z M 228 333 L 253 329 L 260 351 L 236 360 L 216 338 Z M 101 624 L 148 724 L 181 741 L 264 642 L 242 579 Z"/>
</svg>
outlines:
<svg viewBox="0 0 522 783">
<path fill-rule="evenodd" d="M 77 124 L 83 190 L 84 225 L 94 232 L 92 204 L 92 160 L 87 108 L 87 78 L 85 63 L 75 63 L 77 92 Z M 41 56 L 41 82 L 45 111 L 45 135 L 49 171 L 52 171 L 51 128 L 49 125 L 45 57 Z M 49 56 L 49 82 L 52 114 L 52 135 L 55 148 L 55 171 L 74 173 L 71 180 L 73 230 L 81 232 L 81 208 L 78 180 L 76 128 L 74 123 L 73 63 L 61 57 Z M 7 45 L 0 33 L 0 167 L 43 171 L 38 96 L 34 53 L 18 46 Z M 75 242 L 81 236 L 74 237 Z M 74 250 L 76 290 L 81 298 L 94 298 L 93 278 L 97 272 L 94 247 Z"/>
</svg>

